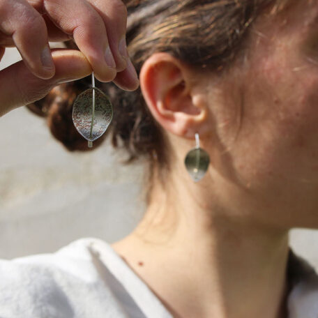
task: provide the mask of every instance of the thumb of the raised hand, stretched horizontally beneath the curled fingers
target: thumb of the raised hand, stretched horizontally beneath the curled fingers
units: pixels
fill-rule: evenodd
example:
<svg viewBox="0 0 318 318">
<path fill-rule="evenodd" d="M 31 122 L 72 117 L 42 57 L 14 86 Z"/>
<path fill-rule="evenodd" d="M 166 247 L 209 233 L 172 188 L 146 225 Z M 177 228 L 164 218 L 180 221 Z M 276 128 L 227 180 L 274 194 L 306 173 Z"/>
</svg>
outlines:
<svg viewBox="0 0 318 318">
<path fill-rule="evenodd" d="M 0 117 L 17 107 L 43 98 L 56 85 L 91 74 L 92 69 L 84 54 L 76 50 L 53 50 L 55 75 L 40 79 L 17 62 L 0 72 Z"/>
</svg>

